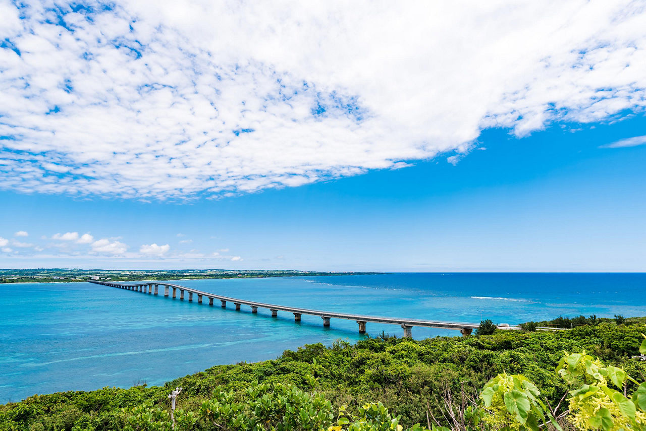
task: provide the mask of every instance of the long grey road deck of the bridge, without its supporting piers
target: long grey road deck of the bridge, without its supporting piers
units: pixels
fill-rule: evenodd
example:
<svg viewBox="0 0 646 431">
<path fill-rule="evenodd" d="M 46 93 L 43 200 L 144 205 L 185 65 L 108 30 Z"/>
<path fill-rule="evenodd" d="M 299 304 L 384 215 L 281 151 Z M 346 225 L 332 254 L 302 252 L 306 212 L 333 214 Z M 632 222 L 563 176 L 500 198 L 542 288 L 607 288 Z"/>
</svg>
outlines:
<svg viewBox="0 0 646 431">
<path fill-rule="evenodd" d="M 463 334 L 470 333 L 471 330 L 477 328 L 479 323 L 463 323 L 463 322 L 447 322 L 447 321 L 435 321 L 435 320 L 423 320 L 423 319 L 408 319 L 403 317 L 386 317 L 386 316 L 367 316 L 365 314 L 351 314 L 351 313 L 338 313 L 338 312 L 329 312 L 323 310 L 310 310 L 309 308 L 298 308 L 284 305 L 260 303 L 256 301 L 249 301 L 247 299 L 233 298 L 229 296 L 222 296 L 213 294 L 211 292 L 203 292 L 202 290 L 197 290 L 190 287 L 175 285 L 172 283 L 166 283 L 164 281 L 147 281 L 146 283 L 114 283 L 110 281 L 97 281 L 97 280 L 88 280 L 90 283 L 96 283 L 98 285 L 106 285 L 118 288 L 138 288 L 143 286 L 169 286 L 170 288 L 176 288 L 180 291 L 191 292 L 193 294 L 207 297 L 210 299 L 219 299 L 220 301 L 231 302 L 234 304 L 248 305 L 258 308 L 267 308 L 269 310 L 278 310 L 285 311 L 295 314 L 306 314 L 309 316 L 320 316 L 325 319 L 347 319 L 355 320 L 359 322 L 374 322 L 374 323 L 388 323 L 391 325 L 401 325 L 404 328 L 404 335 L 410 336 L 410 327 L 412 326 L 424 326 L 427 328 L 442 328 L 442 329 L 457 329 L 463 330 Z M 224 304 L 222 306 L 225 306 Z M 329 320 L 328 320 L 329 322 Z M 404 326 L 407 326 L 408 329 Z M 502 329 L 502 327 L 501 327 Z M 519 326 L 508 326 L 505 329 L 520 329 Z"/>
</svg>

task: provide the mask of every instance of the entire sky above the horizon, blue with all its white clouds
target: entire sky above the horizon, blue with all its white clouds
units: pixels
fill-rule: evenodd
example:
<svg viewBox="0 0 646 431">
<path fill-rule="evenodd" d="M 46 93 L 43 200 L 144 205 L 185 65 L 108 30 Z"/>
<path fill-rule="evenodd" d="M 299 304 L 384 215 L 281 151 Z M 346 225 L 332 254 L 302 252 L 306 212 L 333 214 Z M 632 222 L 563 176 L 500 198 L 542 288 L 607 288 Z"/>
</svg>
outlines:
<svg viewBox="0 0 646 431">
<path fill-rule="evenodd" d="M 514 5 L 0 1 L 0 267 L 646 270 L 646 13 Z"/>
</svg>

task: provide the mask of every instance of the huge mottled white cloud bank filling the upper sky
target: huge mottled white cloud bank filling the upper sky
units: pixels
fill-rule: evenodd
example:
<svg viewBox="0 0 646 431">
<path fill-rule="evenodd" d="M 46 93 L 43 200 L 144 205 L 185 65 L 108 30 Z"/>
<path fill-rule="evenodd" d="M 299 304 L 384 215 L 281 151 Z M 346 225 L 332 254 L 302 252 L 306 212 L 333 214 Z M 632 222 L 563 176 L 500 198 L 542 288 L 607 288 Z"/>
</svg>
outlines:
<svg viewBox="0 0 646 431">
<path fill-rule="evenodd" d="M 227 196 L 646 105 L 630 0 L 88 5 L 0 10 L 2 189 Z"/>
</svg>

